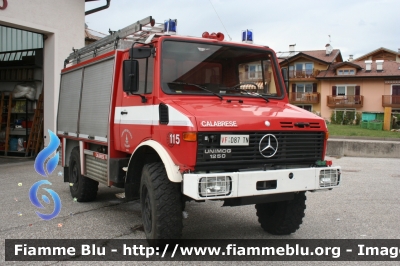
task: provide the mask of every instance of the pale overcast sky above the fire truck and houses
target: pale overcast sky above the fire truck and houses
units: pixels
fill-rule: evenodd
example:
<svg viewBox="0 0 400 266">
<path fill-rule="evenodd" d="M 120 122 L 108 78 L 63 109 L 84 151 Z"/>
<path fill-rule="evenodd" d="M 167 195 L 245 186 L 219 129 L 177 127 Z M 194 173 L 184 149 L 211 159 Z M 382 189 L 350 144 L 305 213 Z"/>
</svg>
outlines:
<svg viewBox="0 0 400 266">
<path fill-rule="evenodd" d="M 105 4 L 89 2 L 86 10 Z M 252 29 L 254 43 L 275 52 L 288 51 L 290 44 L 296 51 L 324 50 L 330 43 L 346 61 L 380 47 L 398 51 L 399 11 L 399 0 L 112 0 L 108 9 L 86 16 L 86 23 L 108 33 L 148 16 L 159 23 L 171 18 L 178 20 L 180 35 L 222 32 L 232 41 Z"/>
</svg>

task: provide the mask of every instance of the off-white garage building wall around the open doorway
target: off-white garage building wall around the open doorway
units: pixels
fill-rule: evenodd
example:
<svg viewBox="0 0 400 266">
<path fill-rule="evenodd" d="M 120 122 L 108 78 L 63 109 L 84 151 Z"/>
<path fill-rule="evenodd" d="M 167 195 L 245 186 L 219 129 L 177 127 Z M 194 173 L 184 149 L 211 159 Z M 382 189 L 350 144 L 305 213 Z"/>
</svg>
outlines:
<svg viewBox="0 0 400 266">
<path fill-rule="evenodd" d="M 84 46 L 84 0 L 12 0 L 0 10 L 0 24 L 42 33 L 44 41 L 44 130 L 56 131 L 60 71 L 72 47 Z"/>
</svg>

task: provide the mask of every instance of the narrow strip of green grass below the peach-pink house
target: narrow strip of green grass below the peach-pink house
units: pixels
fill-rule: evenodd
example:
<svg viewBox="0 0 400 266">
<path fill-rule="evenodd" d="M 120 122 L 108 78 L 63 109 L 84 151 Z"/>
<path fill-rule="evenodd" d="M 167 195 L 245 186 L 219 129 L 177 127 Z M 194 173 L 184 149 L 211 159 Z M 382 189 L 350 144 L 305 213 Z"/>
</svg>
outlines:
<svg viewBox="0 0 400 266">
<path fill-rule="evenodd" d="M 350 125 L 328 125 L 329 136 L 373 137 L 373 138 L 399 138 L 400 132 L 372 130 Z"/>
</svg>

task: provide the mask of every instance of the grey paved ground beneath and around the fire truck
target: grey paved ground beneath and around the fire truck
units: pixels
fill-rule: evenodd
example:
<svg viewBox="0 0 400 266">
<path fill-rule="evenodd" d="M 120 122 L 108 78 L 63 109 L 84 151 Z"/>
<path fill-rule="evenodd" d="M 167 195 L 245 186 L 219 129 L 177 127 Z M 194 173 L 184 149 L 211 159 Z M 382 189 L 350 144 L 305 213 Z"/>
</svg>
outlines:
<svg viewBox="0 0 400 266">
<path fill-rule="evenodd" d="M 265 233 L 257 222 L 254 205 L 221 207 L 222 202 L 187 203 L 185 239 L 400 239 L 400 159 L 331 158 L 342 167 L 342 186 L 322 193 L 307 193 L 306 216 L 300 229 L 289 236 Z M 1 264 L 4 239 L 143 239 L 138 201 L 124 202 L 115 195 L 121 189 L 99 186 L 95 202 L 75 202 L 63 183 L 62 168 L 48 178 L 60 197 L 60 214 L 41 220 L 29 200 L 29 189 L 43 178 L 26 160 L 0 165 Z M 49 207 L 52 210 L 52 205 Z M 41 211 L 45 212 L 45 211 Z M 51 211 L 50 211 L 51 212 Z M 166 262 L 152 262 L 164 265 Z M 167 262 L 199 265 L 201 262 Z M 265 262 L 206 262 L 216 265 L 257 265 Z M 272 265 L 304 265 L 304 262 L 268 262 Z M 306 262 L 316 265 L 321 262 Z M 324 265 L 382 265 L 390 262 L 323 262 Z M 393 262 L 394 264 L 395 262 Z M 6 262 L 7 265 L 135 265 L 140 262 Z"/>
</svg>

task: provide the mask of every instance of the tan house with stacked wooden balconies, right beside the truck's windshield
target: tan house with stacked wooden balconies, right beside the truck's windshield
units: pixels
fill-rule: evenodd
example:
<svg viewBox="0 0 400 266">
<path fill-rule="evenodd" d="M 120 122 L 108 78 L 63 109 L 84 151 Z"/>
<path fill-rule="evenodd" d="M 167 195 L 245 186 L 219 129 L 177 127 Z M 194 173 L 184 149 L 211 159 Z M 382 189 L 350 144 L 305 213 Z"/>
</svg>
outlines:
<svg viewBox="0 0 400 266">
<path fill-rule="evenodd" d="M 289 54 L 280 56 L 280 66 L 289 94 L 289 102 L 310 112 L 321 114 L 321 84 L 317 79 L 333 63 L 343 62 L 340 50 L 330 44 L 325 50 L 295 52 L 289 46 Z"/>
</svg>

